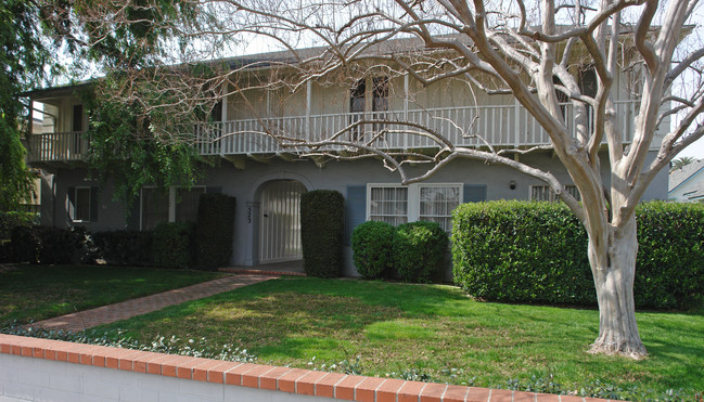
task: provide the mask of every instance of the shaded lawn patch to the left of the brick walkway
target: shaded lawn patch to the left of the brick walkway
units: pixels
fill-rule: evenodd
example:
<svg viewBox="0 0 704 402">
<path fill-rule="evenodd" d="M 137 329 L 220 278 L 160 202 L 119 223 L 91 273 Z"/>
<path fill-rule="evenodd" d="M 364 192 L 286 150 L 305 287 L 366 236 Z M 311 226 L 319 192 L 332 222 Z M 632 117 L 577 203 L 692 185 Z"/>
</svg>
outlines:
<svg viewBox="0 0 704 402">
<path fill-rule="evenodd" d="M 21 265 L 0 271 L 0 324 L 39 321 L 220 276 L 190 270 Z"/>
</svg>

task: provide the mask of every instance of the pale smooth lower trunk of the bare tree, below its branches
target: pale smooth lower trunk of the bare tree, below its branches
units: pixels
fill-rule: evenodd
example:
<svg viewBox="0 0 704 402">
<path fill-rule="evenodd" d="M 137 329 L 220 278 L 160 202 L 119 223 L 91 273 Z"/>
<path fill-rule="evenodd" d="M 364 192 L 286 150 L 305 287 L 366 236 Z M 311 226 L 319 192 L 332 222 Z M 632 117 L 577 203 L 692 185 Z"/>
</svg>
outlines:
<svg viewBox="0 0 704 402">
<path fill-rule="evenodd" d="M 589 236 L 589 260 L 599 302 L 599 337 L 590 352 L 642 359 L 648 352 L 638 334 L 633 302 L 638 254 L 635 213 L 623 222 L 602 236 Z M 597 238 L 606 247 L 598 247 Z"/>
</svg>

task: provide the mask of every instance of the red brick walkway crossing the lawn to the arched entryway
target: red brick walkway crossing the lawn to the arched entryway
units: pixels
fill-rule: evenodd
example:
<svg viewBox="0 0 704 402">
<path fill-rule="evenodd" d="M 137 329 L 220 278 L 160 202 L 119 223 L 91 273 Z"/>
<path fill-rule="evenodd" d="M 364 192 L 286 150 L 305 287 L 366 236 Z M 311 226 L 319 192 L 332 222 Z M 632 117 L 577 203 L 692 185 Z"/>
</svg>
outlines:
<svg viewBox="0 0 704 402">
<path fill-rule="evenodd" d="M 179 304 L 184 301 L 202 299 L 238 287 L 253 285 L 277 277 L 277 275 L 232 275 L 219 280 L 205 282 L 197 285 L 182 287 L 161 294 L 140 297 L 115 304 L 99 307 L 92 310 L 57 316 L 55 319 L 34 323 L 34 327 L 47 329 L 84 330 L 97 325 L 110 324 L 115 321 L 127 320 L 136 315 L 162 310 L 166 307 Z"/>
</svg>

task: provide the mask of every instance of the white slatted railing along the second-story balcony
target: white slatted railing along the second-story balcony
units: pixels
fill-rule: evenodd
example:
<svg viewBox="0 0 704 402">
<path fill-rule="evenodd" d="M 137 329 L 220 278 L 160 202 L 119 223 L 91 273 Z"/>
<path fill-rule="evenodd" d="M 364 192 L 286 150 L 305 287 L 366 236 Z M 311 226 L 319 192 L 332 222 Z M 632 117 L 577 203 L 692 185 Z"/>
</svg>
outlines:
<svg viewBox="0 0 704 402">
<path fill-rule="evenodd" d="M 632 140 L 635 101 L 616 103 L 623 142 Z M 567 128 L 574 132 L 572 106 L 563 105 Z M 269 133 L 294 140 L 319 142 L 342 132 L 356 121 L 363 122 L 345 132 L 337 140 L 366 143 L 380 150 L 434 148 L 437 144 L 428 137 L 409 133 L 423 132 L 408 124 L 418 125 L 445 135 L 458 146 L 487 148 L 530 147 L 550 143 L 546 131 L 520 105 L 447 107 L 413 111 L 388 111 L 368 114 L 328 114 L 261 119 L 231 120 L 200 125 L 195 128 L 196 146 L 201 155 L 256 155 L 305 151 L 282 147 Z M 399 122 L 406 124 L 399 124 Z M 377 135 L 382 129 L 386 132 Z M 29 139 L 29 163 L 81 160 L 88 140 L 80 132 L 35 134 Z M 350 150 L 342 144 L 325 145 L 321 151 Z"/>
</svg>

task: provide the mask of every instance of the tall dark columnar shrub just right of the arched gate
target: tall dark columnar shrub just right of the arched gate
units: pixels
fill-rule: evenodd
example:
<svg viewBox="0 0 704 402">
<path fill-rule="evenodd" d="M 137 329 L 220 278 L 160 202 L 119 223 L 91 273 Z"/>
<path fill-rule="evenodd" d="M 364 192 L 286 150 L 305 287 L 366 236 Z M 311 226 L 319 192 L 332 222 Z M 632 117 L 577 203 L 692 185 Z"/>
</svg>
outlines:
<svg viewBox="0 0 704 402">
<path fill-rule="evenodd" d="M 300 197 L 303 268 L 309 276 L 340 276 L 344 204 L 343 195 L 331 190 L 316 190 Z"/>
</svg>

